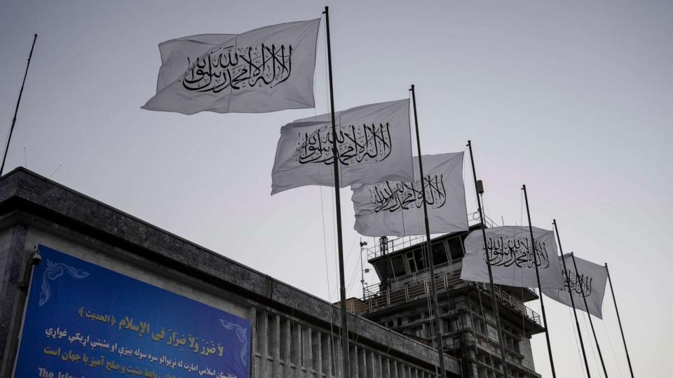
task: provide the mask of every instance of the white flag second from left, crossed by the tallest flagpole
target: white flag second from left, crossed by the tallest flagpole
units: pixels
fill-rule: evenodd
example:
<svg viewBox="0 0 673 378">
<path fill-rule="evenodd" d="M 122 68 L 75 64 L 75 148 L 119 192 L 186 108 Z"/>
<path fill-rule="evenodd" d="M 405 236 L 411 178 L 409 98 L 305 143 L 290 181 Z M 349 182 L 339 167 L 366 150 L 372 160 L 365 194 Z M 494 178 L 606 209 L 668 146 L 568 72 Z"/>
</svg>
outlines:
<svg viewBox="0 0 673 378">
<path fill-rule="evenodd" d="M 409 99 L 358 106 L 335 117 L 342 188 L 353 183 L 412 181 Z M 271 195 L 299 186 L 334 186 L 330 114 L 281 127 L 271 179 Z"/>
</svg>

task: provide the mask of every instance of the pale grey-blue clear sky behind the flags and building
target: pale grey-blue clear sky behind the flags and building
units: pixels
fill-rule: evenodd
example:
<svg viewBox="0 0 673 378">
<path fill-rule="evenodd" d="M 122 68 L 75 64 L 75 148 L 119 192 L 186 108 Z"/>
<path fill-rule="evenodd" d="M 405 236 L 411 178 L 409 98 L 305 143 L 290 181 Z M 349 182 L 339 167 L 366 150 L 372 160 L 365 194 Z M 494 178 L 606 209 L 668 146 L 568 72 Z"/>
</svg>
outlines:
<svg viewBox="0 0 673 378">
<path fill-rule="evenodd" d="M 315 109 L 193 116 L 140 109 L 156 89 L 158 43 L 319 18 L 325 5 L 337 109 L 403 99 L 415 84 L 423 153 L 465 151 L 471 139 L 484 208 L 498 223 L 527 225 L 526 184 L 533 225 L 551 229 L 555 218 L 564 252 L 609 263 L 635 374 L 668 374 L 670 1 L 4 0 L 3 137 L 39 34 L 6 172 L 27 167 L 336 302 L 334 190 L 270 195 L 280 126 L 329 111 L 324 25 Z M 471 180 L 466 170 L 470 212 Z M 348 295 L 359 296 L 350 196 L 341 190 L 345 272 Z M 539 301 L 528 305 L 540 312 Z M 551 300 L 545 307 L 558 376 L 583 377 L 571 310 Z M 609 294 L 603 308 L 604 321 L 594 325 L 609 374 L 627 377 Z M 536 370 L 551 377 L 544 335 L 532 343 Z M 600 377 L 591 344 L 592 376 Z"/>
</svg>

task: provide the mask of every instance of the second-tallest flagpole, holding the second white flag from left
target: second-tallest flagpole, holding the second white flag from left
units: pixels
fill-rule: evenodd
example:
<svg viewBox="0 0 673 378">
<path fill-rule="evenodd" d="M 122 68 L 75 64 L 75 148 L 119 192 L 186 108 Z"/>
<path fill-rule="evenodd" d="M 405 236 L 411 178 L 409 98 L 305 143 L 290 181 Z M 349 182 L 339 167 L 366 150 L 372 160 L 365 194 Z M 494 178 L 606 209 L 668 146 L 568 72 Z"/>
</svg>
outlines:
<svg viewBox="0 0 673 378">
<path fill-rule="evenodd" d="M 416 112 L 416 90 L 412 84 L 412 102 L 414 103 L 414 123 L 416 123 L 416 148 L 419 151 L 419 171 L 421 172 L 421 196 L 423 199 L 423 216 L 426 221 L 426 243 L 428 244 L 428 265 L 430 265 L 430 296 L 433 300 L 433 311 L 435 311 L 435 339 L 437 339 L 437 353 L 440 358 L 440 377 L 447 377 L 447 370 L 444 367 L 444 340 L 442 339 L 442 329 L 440 328 L 440 306 L 437 304 L 437 289 L 435 288 L 435 259 L 433 258 L 433 243 L 430 241 L 430 222 L 428 221 L 428 204 L 426 203 L 426 179 L 423 176 L 423 155 L 421 154 L 421 137 L 419 136 L 419 117 Z"/>
</svg>

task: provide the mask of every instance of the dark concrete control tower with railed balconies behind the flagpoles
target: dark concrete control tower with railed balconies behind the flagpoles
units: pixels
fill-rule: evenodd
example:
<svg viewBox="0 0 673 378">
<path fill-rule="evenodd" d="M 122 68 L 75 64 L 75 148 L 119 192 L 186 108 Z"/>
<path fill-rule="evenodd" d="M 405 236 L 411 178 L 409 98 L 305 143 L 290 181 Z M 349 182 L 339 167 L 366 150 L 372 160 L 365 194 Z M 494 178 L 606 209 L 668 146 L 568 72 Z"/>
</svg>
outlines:
<svg viewBox="0 0 673 378">
<path fill-rule="evenodd" d="M 353 298 L 349 307 L 355 314 L 432 345 L 430 285 L 434 282 L 444 352 L 461 360 L 465 378 L 503 377 L 489 285 L 460 279 L 467 235 L 458 232 L 433 239 L 434 280 L 421 243 L 425 237 L 379 239 L 366 251 L 381 283 L 363 286 L 362 300 Z M 541 317 L 524 305 L 537 295 L 526 288 L 495 287 L 509 377 L 541 377 L 535 372 L 530 339 L 544 328 Z"/>
</svg>

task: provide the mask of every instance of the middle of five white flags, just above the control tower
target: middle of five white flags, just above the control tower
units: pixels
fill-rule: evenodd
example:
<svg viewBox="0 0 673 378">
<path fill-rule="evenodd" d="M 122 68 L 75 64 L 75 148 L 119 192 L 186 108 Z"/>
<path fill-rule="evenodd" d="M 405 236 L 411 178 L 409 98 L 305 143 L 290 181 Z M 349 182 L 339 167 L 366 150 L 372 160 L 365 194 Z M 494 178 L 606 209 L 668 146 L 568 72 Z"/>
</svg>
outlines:
<svg viewBox="0 0 673 378">
<path fill-rule="evenodd" d="M 430 233 L 468 230 L 463 186 L 463 153 L 423 155 Z M 425 235 L 419 158 L 414 158 L 414 181 L 355 184 L 355 230 L 365 236 Z"/>
</svg>

